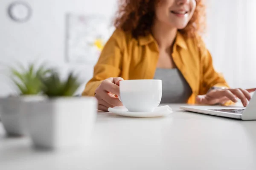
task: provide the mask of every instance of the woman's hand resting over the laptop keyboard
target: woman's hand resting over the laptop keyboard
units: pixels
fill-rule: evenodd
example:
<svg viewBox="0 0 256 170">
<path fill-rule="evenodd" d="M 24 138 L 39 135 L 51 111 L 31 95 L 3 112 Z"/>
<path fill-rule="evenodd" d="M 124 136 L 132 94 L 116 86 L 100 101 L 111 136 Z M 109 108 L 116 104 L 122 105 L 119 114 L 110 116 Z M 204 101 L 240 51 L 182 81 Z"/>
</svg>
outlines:
<svg viewBox="0 0 256 170">
<path fill-rule="evenodd" d="M 233 102 L 238 102 L 237 98 L 241 100 L 244 107 L 247 106 L 248 102 L 251 99 L 250 93 L 255 91 L 255 88 L 251 89 L 215 89 L 209 91 L 205 95 L 199 95 L 196 98 L 196 102 L 199 104 L 205 105 L 215 105 L 217 103 L 224 104 L 225 102 L 231 100 Z"/>
</svg>

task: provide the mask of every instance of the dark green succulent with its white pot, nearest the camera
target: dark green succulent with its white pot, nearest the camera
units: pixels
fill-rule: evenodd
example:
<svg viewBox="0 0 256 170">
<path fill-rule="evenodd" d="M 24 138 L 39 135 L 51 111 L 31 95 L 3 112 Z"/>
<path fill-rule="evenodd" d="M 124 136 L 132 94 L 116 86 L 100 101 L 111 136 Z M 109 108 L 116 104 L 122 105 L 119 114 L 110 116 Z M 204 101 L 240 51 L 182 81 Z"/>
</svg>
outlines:
<svg viewBox="0 0 256 170">
<path fill-rule="evenodd" d="M 81 83 L 70 73 L 67 79 L 52 72 L 42 80 L 42 101 L 27 102 L 28 132 L 36 148 L 60 149 L 87 144 L 96 119 L 97 100 L 75 97 Z"/>
</svg>

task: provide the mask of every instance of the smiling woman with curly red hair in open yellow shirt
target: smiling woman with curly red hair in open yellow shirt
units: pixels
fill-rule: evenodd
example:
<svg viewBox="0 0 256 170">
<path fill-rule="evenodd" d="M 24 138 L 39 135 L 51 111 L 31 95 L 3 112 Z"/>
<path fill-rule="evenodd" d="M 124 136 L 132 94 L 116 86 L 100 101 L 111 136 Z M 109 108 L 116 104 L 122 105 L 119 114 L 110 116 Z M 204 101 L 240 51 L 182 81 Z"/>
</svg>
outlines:
<svg viewBox="0 0 256 170">
<path fill-rule="evenodd" d="M 161 102 L 230 104 L 250 91 L 231 89 L 212 65 L 201 40 L 202 0 L 122 0 L 116 31 L 106 43 L 83 95 L 95 96 L 99 110 L 122 105 L 119 81 L 162 79 Z M 113 95 L 115 94 L 115 95 Z"/>
</svg>

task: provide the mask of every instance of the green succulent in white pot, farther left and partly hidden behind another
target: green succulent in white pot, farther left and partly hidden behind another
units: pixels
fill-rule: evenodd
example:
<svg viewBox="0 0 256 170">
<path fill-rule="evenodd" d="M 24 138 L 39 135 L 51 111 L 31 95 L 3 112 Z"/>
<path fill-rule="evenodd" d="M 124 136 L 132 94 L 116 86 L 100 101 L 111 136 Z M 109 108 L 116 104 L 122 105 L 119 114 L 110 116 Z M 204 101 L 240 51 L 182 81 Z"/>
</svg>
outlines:
<svg viewBox="0 0 256 170">
<path fill-rule="evenodd" d="M 28 69 L 23 67 L 20 67 L 20 70 L 11 69 L 12 75 L 10 77 L 17 87 L 18 95 L 1 98 L 0 102 L 0 118 L 8 136 L 26 134 L 24 126 L 26 113 L 21 111 L 22 101 L 42 99 L 42 96 L 39 96 L 43 85 L 41 79 L 49 71 L 44 65 L 35 69 L 34 64 L 30 64 Z"/>
</svg>

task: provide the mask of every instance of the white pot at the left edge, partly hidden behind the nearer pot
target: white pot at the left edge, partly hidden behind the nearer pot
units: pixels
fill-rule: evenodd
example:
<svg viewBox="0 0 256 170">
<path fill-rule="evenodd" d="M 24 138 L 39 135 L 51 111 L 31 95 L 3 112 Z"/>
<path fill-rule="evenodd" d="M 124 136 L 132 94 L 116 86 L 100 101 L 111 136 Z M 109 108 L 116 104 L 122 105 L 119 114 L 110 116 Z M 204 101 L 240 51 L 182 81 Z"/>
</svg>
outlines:
<svg viewBox="0 0 256 170">
<path fill-rule="evenodd" d="M 26 112 L 21 110 L 23 101 L 37 101 L 43 96 L 12 96 L 0 99 L 0 119 L 8 136 L 26 135 Z"/>
</svg>

